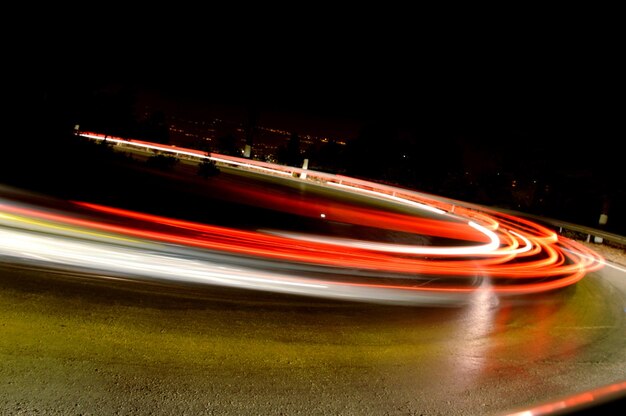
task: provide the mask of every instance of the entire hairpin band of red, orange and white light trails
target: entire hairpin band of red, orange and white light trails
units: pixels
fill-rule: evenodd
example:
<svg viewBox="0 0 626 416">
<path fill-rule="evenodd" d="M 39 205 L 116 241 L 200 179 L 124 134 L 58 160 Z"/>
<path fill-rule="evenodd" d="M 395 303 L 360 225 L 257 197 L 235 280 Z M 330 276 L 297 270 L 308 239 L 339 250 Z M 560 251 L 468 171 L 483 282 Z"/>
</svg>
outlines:
<svg viewBox="0 0 626 416">
<path fill-rule="evenodd" d="M 105 139 L 92 133 L 84 136 Z M 249 231 L 88 202 L 74 202 L 64 211 L 0 199 L 1 258 L 141 279 L 413 304 L 464 303 L 481 290 L 505 296 L 559 289 L 603 264 L 593 250 L 537 223 L 460 201 L 192 149 L 106 140 L 178 157 L 209 158 L 335 193 L 382 200 L 385 206 L 402 206 L 400 214 L 341 204 L 323 207 L 261 192 L 254 196 L 259 204 L 286 212 L 403 231 L 438 243 Z"/>
</svg>

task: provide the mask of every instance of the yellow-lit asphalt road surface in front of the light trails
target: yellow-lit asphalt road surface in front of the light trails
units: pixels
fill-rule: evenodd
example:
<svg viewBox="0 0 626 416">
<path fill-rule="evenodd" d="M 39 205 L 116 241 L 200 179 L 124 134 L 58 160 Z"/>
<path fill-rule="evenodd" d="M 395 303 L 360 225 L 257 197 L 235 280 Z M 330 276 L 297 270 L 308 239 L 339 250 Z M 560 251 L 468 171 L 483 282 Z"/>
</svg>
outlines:
<svg viewBox="0 0 626 416">
<path fill-rule="evenodd" d="M 431 306 L 28 255 L 0 260 L 0 414 L 502 415 L 626 379 L 624 263 Z"/>
</svg>

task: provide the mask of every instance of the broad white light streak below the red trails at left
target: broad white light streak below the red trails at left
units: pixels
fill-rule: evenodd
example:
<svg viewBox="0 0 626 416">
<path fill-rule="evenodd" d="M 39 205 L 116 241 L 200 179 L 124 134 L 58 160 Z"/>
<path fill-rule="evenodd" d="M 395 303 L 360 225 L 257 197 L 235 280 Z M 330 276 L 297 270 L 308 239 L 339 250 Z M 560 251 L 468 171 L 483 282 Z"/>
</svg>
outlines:
<svg viewBox="0 0 626 416">
<path fill-rule="evenodd" d="M 103 240 L 106 240 L 103 238 Z M 329 299 L 345 299 L 362 302 L 393 304 L 458 305 L 466 302 L 461 294 L 421 294 L 411 291 L 355 286 L 338 281 L 325 281 L 298 276 L 297 273 L 261 271 L 254 268 L 229 268 L 194 256 L 181 257 L 168 253 L 167 246 L 155 253 L 154 243 L 149 249 L 137 246 L 115 245 L 110 241 L 76 240 L 63 235 L 33 233 L 28 230 L 0 228 L 0 258 L 31 264 L 33 259 L 59 268 L 79 268 L 85 272 L 106 272 L 139 277 L 145 280 L 169 280 L 175 282 L 203 283 L 242 289 L 317 296 Z M 30 259 L 24 256 L 28 253 Z M 108 277 L 108 276 L 107 276 Z"/>
</svg>

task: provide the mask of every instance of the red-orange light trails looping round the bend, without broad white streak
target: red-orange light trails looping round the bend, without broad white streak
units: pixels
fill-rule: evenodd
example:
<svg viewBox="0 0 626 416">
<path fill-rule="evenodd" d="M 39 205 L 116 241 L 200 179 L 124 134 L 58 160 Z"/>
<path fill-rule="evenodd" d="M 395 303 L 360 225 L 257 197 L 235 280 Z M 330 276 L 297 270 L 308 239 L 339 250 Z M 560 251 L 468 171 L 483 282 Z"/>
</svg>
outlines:
<svg viewBox="0 0 626 416">
<path fill-rule="evenodd" d="M 84 136 L 104 140 L 101 135 L 90 133 Z M 258 190 L 250 190 L 246 195 L 259 206 L 279 207 L 277 209 L 291 214 L 319 218 L 320 211 L 323 211 L 323 218 L 344 224 L 402 231 L 426 237 L 427 240 L 434 238 L 433 241 L 440 241 L 437 240 L 439 238 L 446 240 L 439 245 L 411 245 L 282 230 L 250 231 L 89 202 L 74 203 L 79 217 L 0 201 L 0 220 L 48 229 L 71 228 L 82 232 L 81 238 L 85 239 L 100 238 L 100 235 L 94 234 L 97 232 L 114 235 L 118 239 L 165 243 L 181 249 L 188 247 L 211 255 L 261 261 L 266 269 L 270 267 L 268 264 L 275 264 L 275 270 L 287 268 L 290 275 L 269 278 L 263 274 L 263 277 L 253 278 L 251 276 L 256 272 L 248 271 L 247 278 L 241 273 L 236 273 L 234 278 L 248 283 L 254 281 L 262 287 L 272 286 L 277 281 L 303 287 L 312 284 L 316 291 L 321 291 L 315 294 L 319 296 L 324 296 L 321 287 L 324 290 L 341 287 L 345 291 L 404 292 L 402 296 L 407 293 L 462 295 L 479 290 L 481 282 L 486 279 L 489 281 L 489 290 L 496 294 L 528 294 L 575 284 L 603 264 L 600 255 L 582 244 L 558 236 L 552 230 L 527 219 L 490 208 L 341 175 L 306 170 L 306 179 L 294 179 L 293 174 L 302 173 L 301 169 L 243 158 L 207 155 L 192 149 L 142 141 L 119 138 L 107 140 L 197 158 L 212 158 L 239 168 L 262 168 L 260 171 L 267 175 L 287 173 L 289 178 L 285 180 L 315 181 L 318 186 L 331 188 L 333 193 L 353 193 L 365 199 L 382 199 L 387 205 L 402 206 L 403 213 L 381 208 L 353 207 L 339 201 L 334 201 L 330 206 L 308 203 L 294 200 L 288 195 Z M 5 250 L 9 249 L 10 243 L 6 243 Z M 55 255 L 60 254 L 57 251 Z M 45 252 L 37 256 L 45 257 Z M 150 269 L 152 266 L 146 267 Z M 160 272 L 166 273 L 163 270 L 168 270 L 169 273 L 169 266 L 159 263 L 158 267 Z M 267 270 L 263 273 L 271 274 Z M 196 276 L 202 273 L 194 271 L 192 274 Z M 216 277 L 218 275 L 220 277 Z M 228 277 L 222 276 L 221 272 L 212 272 L 209 280 L 212 284 L 220 284 L 228 282 Z M 274 283 L 269 284 L 269 281 Z M 384 296 L 388 299 L 390 295 Z"/>
</svg>

